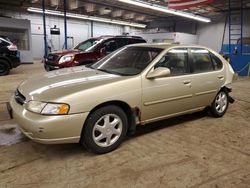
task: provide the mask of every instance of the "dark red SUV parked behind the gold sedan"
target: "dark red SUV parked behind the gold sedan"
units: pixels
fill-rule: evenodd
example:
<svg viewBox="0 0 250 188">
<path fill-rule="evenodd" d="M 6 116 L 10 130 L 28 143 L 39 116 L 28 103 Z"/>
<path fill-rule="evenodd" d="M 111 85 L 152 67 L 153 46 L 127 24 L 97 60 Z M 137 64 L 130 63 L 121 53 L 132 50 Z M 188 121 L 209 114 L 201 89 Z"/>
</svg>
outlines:
<svg viewBox="0 0 250 188">
<path fill-rule="evenodd" d="M 72 50 L 50 53 L 44 61 L 47 71 L 92 64 L 107 54 L 128 44 L 146 43 L 138 36 L 100 36 L 79 43 Z"/>
</svg>

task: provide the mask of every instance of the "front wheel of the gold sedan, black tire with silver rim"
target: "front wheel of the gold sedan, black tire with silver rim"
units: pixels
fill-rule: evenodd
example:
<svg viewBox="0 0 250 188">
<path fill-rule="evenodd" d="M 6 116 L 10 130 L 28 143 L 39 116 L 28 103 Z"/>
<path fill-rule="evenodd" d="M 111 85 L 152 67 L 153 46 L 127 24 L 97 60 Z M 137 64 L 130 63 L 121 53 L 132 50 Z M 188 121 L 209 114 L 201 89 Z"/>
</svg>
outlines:
<svg viewBox="0 0 250 188">
<path fill-rule="evenodd" d="M 94 153 L 108 153 L 121 144 L 127 130 L 128 119 L 124 111 L 118 106 L 104 106 L 87 118 L 81 144 Z"/>
</svg>

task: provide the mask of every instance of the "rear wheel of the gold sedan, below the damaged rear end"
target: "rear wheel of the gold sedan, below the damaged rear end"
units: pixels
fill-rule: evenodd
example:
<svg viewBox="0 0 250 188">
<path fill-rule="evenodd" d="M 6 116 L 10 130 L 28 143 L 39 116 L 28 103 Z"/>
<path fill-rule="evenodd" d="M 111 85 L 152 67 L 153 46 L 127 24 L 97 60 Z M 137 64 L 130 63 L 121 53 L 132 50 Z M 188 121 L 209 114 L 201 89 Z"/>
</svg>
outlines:
<svg viewBox="0 0 250 188">
<path fill-rule="evenodd" d="M 228 93 L 226 91 L 221 90 L 219 93 L 217 93 L 211 105 L 211 114 L 217 118 L 222 117 L 226 113 L 228 105 Z"/>
</svg>

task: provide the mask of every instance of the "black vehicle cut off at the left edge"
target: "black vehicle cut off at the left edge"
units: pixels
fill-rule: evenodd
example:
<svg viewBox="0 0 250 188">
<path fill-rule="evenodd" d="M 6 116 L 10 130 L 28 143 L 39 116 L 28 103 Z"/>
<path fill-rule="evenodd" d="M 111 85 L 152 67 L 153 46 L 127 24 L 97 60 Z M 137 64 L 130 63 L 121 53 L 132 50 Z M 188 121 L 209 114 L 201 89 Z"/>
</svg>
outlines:
<svg viewBox="0 0 250 188">
<path fill-rule="evenodd" d="M 0 36 L 0 76 L 7 75 L 10 69 L 20 65 L 17 46 L 6 36 Z"/>
</svg>

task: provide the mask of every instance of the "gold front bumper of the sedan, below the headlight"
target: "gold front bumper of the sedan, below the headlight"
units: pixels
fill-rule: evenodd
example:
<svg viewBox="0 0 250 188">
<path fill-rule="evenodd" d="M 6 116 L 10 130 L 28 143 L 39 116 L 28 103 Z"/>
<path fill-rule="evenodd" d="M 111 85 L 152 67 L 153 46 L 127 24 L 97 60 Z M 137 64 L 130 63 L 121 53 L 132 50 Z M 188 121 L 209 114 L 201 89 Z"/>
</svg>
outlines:
<svg viewBox="0 0 250 188">
<path fill-rule="evenodd" d="M 45 116 L 32 113 L 18 104 L 14 97 L 12 114 L 24 135 L 43 144 L 78 143 L 88 113 Z"/>
</svg>

